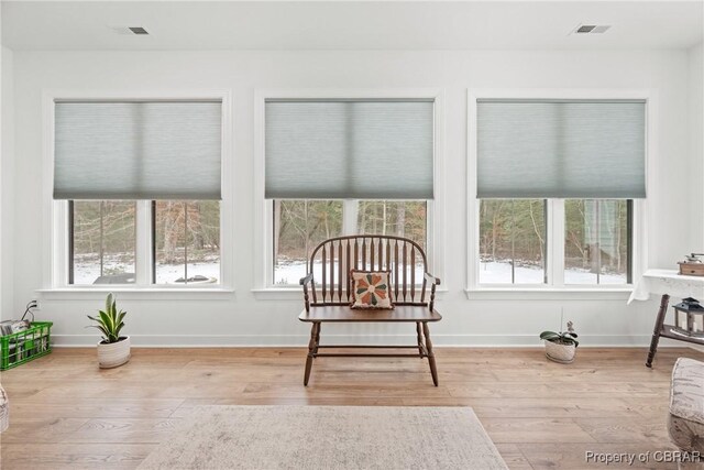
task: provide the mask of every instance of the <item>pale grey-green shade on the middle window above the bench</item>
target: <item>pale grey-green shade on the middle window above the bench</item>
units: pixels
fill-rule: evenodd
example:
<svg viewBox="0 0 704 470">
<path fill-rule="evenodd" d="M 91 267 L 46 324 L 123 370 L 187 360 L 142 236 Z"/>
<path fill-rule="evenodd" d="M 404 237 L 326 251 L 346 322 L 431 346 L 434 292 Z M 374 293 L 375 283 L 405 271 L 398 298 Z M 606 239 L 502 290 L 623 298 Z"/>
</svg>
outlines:
<svg viewBox="0 0 704 470">
<path fill-rule="evenodd" d="M 265 106 L 266 198 L 432 198 L 432 100 Z"/>
</svg>

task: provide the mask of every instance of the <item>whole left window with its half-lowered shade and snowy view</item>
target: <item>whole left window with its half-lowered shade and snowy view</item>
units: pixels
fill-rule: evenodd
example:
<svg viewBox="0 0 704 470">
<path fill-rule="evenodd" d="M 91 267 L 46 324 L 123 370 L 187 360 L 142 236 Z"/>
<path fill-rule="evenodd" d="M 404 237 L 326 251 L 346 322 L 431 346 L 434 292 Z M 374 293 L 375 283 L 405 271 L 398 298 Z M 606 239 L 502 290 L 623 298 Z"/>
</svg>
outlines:
<svg viewBox="0 0 704 470">
<path fill-rule="evenodd" d="M 54 285 L 221 283 L 222 101 L 54 100 Z"/>
</svg>

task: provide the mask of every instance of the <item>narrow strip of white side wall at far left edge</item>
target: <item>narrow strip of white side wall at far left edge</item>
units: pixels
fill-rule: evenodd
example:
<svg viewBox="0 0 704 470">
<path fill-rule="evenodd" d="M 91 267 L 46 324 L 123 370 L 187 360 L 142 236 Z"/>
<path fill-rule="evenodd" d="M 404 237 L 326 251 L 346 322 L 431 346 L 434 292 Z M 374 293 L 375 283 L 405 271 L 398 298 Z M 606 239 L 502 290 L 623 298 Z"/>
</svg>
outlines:
<svg viewBox="0 0 704 470">
<path fill-rule="evenodd" d="M 0 87 L 0 319 L 16 318 L 13 315 L 14 297 L 14 91 L 12 51 L 2 47 L 2 85 Z"/>
</svg>

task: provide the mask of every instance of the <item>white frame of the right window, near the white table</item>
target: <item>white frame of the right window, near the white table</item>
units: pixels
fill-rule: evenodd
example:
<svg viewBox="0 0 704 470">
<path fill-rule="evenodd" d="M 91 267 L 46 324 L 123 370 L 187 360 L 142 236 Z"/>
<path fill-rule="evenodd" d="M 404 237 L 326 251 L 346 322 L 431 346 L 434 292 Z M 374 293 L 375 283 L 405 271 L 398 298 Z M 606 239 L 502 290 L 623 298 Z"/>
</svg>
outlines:
<svg viewBox="0 0 704 470">
<path fill-rule="evenodd" d="M 477 188 L 476 152 L 476 102 L 479 99 L 645 99 L 646 100 L 646 188 L 648 199 L 653 193 L 653 174 L 650 165 L 657 152 L 657 92 L 654 90 L 631 89 L 468 89 L 468 298 L 626 298 L 632 284 L 564 284 L 564 199 L 543 198 L 546 204 L 547 284 L 483 284 L 480 283 L 480 199 Z M 647 260 L 647 220 L 652 205 L 648 199 L 634 199 L 631 272 L 637 280 Z"/>
</svg>

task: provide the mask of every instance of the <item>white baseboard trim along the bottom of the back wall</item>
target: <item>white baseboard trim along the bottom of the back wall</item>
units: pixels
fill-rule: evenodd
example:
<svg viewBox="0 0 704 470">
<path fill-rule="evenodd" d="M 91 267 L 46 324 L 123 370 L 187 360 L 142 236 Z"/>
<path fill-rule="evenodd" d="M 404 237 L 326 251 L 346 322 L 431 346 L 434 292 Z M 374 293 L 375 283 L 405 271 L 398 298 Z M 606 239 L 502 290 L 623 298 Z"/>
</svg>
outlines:
<svg viewBox="0 0 704 470">
<path fill-rule="evenodd" d="M 94 347 L 95 335 L 52 335 L 55 347 Z M 307 335 L 131 335 L 132 346 L 144 348 L 253 348 L 306 347 Z M 415 345 L 415 335 L 328 335 L 324 345 Z M 537 335 L 432 335 L 438 347 L 541 347 Z M 583 335 L 580 348 L 647 347 L 650 335 Z M 681 341 L 662 339 L 661 346 L 688 346 Z"/>
</svg>

